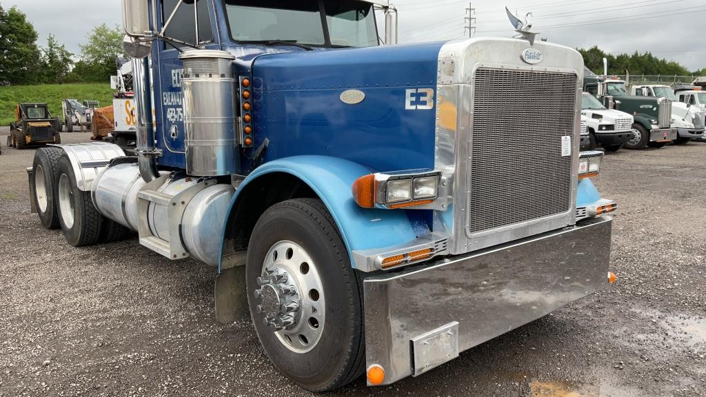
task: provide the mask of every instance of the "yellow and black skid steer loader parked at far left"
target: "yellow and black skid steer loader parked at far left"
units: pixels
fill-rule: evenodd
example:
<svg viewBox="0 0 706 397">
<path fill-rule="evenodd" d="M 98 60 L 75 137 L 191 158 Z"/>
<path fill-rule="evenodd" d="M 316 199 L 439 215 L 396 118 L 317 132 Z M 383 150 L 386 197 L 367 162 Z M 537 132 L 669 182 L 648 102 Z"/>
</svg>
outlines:
<svg viewBox="0 0 706 397">
<path fill-rule="evenodd" d="M 45 103 L 21 103 L 15 109 L 16 122 L 10 123 L 7 146 L 24 149 L 61 143 L 59 119 L 52 118 Z"/>
</svg>

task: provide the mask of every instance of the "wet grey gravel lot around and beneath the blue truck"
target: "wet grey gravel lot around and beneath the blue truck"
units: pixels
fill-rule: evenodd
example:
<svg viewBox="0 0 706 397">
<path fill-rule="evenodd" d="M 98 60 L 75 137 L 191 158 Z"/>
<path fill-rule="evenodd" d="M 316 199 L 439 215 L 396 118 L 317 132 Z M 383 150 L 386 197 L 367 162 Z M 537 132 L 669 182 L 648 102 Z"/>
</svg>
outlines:
<svg viewBox="0 0 706 397">
<path fill-rule="evenodd" d="M 705 395 L 704 153 L 606 156 L 597 184 L 621 206 L 616 285 L 421 377 L 330 395 Z M 217 324 L 212 268 L 134 239 L 75 249 L 40 227 L 32 155 L 0 156 L 0 396 L 309 396 L 270 365 L 249 322 Z"/>
</svg>

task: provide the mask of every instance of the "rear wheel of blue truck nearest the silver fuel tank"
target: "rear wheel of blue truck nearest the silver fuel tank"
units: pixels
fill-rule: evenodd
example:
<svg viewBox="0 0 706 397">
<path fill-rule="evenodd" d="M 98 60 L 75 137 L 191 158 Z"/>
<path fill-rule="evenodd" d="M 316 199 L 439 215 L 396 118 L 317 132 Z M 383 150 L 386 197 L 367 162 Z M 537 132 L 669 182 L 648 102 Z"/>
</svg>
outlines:
<svg viewBox="0 0 706 397">
<path fill-rule="evenodd" d="M 90 191 L 80 191 L 76 185 L 71 161 L 61 155 L 56 169 L 59 223 L 68 244 L 83 247 L 100 239 L 103 216 L 93 206 Z"/>
</svg>

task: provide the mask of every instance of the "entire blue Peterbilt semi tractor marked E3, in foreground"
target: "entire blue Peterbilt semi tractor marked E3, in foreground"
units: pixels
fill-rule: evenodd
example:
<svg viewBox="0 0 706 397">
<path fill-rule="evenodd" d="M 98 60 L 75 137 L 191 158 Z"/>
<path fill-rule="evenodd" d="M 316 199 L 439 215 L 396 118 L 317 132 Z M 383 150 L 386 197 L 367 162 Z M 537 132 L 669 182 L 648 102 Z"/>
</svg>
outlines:
<svg viewBox="0 0 706 397">
<path fill-rule="evenodd" d="M 137 156 L 56 146 L 28 170 L 69 244 L 133 231 L 213 266 L 217 320 L 251 317 L 311 391 L 424 374 L 613 280 L 574 49 L 381 45 L 396 13 L 369 1 L 190 3 L 124 1 Z"/>
</svg>

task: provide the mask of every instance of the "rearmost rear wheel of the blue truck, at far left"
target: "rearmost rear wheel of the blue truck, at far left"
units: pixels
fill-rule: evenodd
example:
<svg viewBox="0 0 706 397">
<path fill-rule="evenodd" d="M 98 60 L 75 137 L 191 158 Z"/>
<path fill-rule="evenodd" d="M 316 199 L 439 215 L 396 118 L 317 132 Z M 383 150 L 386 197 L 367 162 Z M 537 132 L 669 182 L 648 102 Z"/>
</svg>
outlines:
<svg viewBox="0 0 706 397">
<path fill-rule="evenodd" d="M 34 189 L 32 200 L 35 201 L 37 215 L 47 229 L 59 227 L 59 214 L 56 209 L 56 168 L 63 150 L 59 148 L 40 148 L 35 152 L 32 162 Z"/>
</svg>

